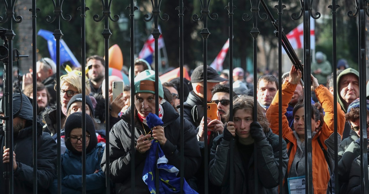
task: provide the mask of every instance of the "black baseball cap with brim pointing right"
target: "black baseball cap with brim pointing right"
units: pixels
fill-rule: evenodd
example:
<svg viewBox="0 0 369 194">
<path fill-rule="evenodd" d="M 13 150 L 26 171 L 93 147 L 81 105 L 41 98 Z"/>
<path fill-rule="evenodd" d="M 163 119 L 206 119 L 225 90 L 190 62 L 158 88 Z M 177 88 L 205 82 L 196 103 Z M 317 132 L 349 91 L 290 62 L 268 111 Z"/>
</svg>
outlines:
<svg viewBox="0 0 369 194">
<path fill-rule="evenodd" d="M 207 82 L 218 83 L 222 81 L 227 81 L 227 79 L 220 77 L 218 72 L 212 67 L 207 67 Z M 196 67 L 191 75 L 191 83 L 199 83 L 204 81 L 204 66 Z"/>
</svg>

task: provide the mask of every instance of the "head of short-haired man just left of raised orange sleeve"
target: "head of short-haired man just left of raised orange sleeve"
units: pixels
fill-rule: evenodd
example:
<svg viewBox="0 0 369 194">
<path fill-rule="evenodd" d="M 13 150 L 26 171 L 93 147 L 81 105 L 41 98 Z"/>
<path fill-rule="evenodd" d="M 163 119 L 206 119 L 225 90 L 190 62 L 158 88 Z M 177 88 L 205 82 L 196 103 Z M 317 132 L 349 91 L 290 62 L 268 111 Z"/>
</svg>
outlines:
<svg viewBox="0 0 369 194">
<path fill-rule="evenodd" d="M 273 75 L 263 75 L 258 80 L 257 95 L 258 102 L 263 107 L 264 113 L 268 110 L 270 103 L 277 94 L 278 80 Z"/>
</svg>

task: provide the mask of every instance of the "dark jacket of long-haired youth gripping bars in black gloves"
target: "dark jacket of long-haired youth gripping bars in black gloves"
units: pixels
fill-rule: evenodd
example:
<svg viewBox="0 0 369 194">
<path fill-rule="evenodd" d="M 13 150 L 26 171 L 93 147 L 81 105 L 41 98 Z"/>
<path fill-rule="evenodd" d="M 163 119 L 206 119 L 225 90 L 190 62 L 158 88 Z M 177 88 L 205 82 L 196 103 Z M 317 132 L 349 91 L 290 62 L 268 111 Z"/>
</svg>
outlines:
<svg viewBox="0 0 369 194">
<path fill-rule="evenodd" d="M 235 141 L 238 141 L 237 138 Z M 288 156 L 287 144 L 282 140 L 283 163 L 279 163 L 279 137 L 270 130 L 266 138 L 254 142 L 258 150 L 258 192 L 261 194 L 277 194 L 279 184 L 279 165 L 282 165 L 283 176 L 286 173 Z M 222 186 L 224 194 L 230 193 L 229 173 L 230 142 L 223 140 L 223 134 L 216 137 L 210 153 L 209 178 L 215 185 Z M 237 143 L 234 147 L 234 192 L 237 194 L 255 193 L 254 188 L 254 153 L 249 158 L 248 169 L 242 162 Z M 248 172 L 248 173 L 245 173 Z"/>
</svg>

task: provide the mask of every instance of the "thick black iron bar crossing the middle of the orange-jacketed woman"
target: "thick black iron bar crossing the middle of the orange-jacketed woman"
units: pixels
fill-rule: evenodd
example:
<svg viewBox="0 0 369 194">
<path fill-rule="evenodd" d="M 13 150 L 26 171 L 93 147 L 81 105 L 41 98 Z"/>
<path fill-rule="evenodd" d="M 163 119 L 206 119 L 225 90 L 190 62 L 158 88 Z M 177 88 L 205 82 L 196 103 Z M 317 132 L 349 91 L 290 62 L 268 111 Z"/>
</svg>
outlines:
<svg viewBox="0 0 369 194">
<path fill-rule="evenodd" d="M 314 193 L 313 191 L 313 171 L 312 171 L 312 154 L 311 154 L 311 78 L 310 78 L 310 0 L 304 1 L 303 4 L 303 20 L 304 20 L 304 113 L 305 113 L 305 179 L 308 181 L 306 193 Z"/>
</svg>

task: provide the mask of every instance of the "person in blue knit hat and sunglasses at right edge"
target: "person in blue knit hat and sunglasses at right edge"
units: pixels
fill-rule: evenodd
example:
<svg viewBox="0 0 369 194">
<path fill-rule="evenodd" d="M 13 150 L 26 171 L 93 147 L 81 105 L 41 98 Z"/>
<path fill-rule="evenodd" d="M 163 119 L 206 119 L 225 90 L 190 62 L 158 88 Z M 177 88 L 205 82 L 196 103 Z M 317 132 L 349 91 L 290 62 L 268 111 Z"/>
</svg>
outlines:
<svg viewBox="0 0 369 194">
<path fill-rule="evenodd" d="M 356 183 L 349 183 L 352 182 L 351 177 L 355 176 L 355 169 L 354 163 L 355 159 L 360 156 L 360 99 L 354 100 L 348 108 L 347 113 L 345 115 L 346 121 L 351 126 L 350 137 L 345 138 L 342 140 L 342 143 L 338 149 L 338 151 L 342 151 L 341 160 L 338 162 L 338 180 L 339 185 L 341 186 L 339 193 L 349 193 L 350 188 L 352 187 L 352 193 L 354 192 L 354 186 Z M 369 122 L 369 100 L 366 100 L 366 122 Z M 367 123 L 366 126 L 366 134 L 368 137 L 369 134 L 369 124 Z M 365 130 L 365 129 L 363 129 Z M 338 155 L 340 158 L 340 155 Z M 350 172 L 351 169 L 351 172 Z M 360 163 L 359 163 L 359 178 L 360 178 Z M 352 175 L 354 173 L 354 175 Z M 354 178 L 355 179 L 355 178 Z M 351 184 L 351 186 L 350 186 Z M 360 185 L 360 182 L 358 183 Z M 356 190 L 360 193 L 360 188 Z"/>
</svg>

